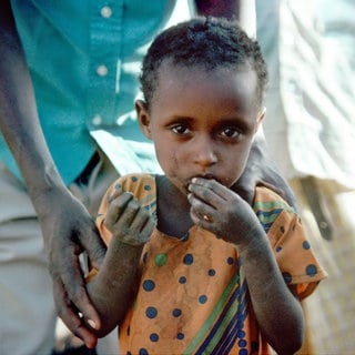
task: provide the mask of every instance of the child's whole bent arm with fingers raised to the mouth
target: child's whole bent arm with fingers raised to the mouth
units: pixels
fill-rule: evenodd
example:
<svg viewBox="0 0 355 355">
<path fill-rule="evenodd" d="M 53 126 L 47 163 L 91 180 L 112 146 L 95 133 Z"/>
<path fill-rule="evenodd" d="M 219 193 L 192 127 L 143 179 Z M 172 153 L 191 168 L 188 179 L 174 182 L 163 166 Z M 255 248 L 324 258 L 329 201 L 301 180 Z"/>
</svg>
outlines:
<svg viewBox="0 0 355 355">
<path fill-rule="evenodd" d="M 303 312 L 254 211 L 214 180 L 194 179 L 190 191 L 194 223 L 236 245 L 263 337 L 277 354 L 294 354 L 303 342 Z"/>
</svg>

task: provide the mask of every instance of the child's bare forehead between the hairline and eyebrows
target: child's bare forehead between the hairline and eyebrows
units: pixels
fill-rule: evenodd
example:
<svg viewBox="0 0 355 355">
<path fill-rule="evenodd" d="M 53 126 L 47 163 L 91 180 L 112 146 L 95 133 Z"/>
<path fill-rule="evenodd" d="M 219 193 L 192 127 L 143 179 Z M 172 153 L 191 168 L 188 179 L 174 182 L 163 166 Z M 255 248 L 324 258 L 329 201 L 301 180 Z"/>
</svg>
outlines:
<svg viewBox="0 0 355 355">
<path fill-rule="evenodd" d="M 165 63 L 159 77 L 153 93 L 156 99 L 153 100 L 154 103 L 165 105 L 169 102 L 171 106 L 186 105 L 186 102 L 194 102 L 197 106 L 205 103 L 216 105 L 229 103 L 230 106 L 243 106 L 246 111 L 255 108 L 257 77 L 250 65 L 244 64 L 240 68 L 222 65 L 206 70 L 200 65 Z"/>
</svg>

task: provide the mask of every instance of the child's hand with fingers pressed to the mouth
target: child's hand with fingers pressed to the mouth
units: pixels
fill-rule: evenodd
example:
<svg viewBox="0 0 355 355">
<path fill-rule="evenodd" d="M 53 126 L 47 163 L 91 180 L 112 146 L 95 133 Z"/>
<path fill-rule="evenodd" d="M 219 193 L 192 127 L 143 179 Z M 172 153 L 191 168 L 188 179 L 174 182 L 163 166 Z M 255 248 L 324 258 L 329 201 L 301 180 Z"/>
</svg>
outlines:
<svg viewBox="0 0 355 355">
<path fill-rule="evenodd" d="M 215 180 L 195 178 L 189 186 L 191 219 L 217 237 L 234 244 L 247 244 L 262 229 L 251 206 L 235 192 Z"/>
</svg>

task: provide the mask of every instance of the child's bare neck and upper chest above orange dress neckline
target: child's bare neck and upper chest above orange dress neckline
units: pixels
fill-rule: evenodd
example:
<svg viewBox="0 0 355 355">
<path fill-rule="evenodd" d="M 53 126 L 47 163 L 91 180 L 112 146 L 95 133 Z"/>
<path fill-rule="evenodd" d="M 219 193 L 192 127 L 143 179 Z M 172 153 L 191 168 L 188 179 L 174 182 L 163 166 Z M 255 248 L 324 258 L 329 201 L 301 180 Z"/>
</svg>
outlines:
<svg viewBox="0 0 355 355">
<path fill-rule="evenodd" d="M 164 234 L 183 237 L 192 227 L 187 196 L 166 176 L 156 178 L 158 230 Z"/>
</svg>

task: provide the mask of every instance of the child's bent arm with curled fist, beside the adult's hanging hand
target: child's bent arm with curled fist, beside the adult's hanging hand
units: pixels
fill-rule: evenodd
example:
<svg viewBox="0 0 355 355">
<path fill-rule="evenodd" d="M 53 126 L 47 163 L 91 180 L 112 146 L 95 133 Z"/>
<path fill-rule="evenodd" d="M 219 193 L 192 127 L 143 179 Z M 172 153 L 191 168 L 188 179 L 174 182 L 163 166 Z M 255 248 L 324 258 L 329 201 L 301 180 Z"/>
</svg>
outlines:
<svg viewBox="0 0 355 355">
<path fill-rule="evenodd" d="M 111 235 L 99 273 L 89 282 L 90 298 L 101 318 L 99 337 L 119 325 L 134 300 L 143 245 L 154 222 L 130 193 L 110 202 L 103 229 Z"/>
</svg>

